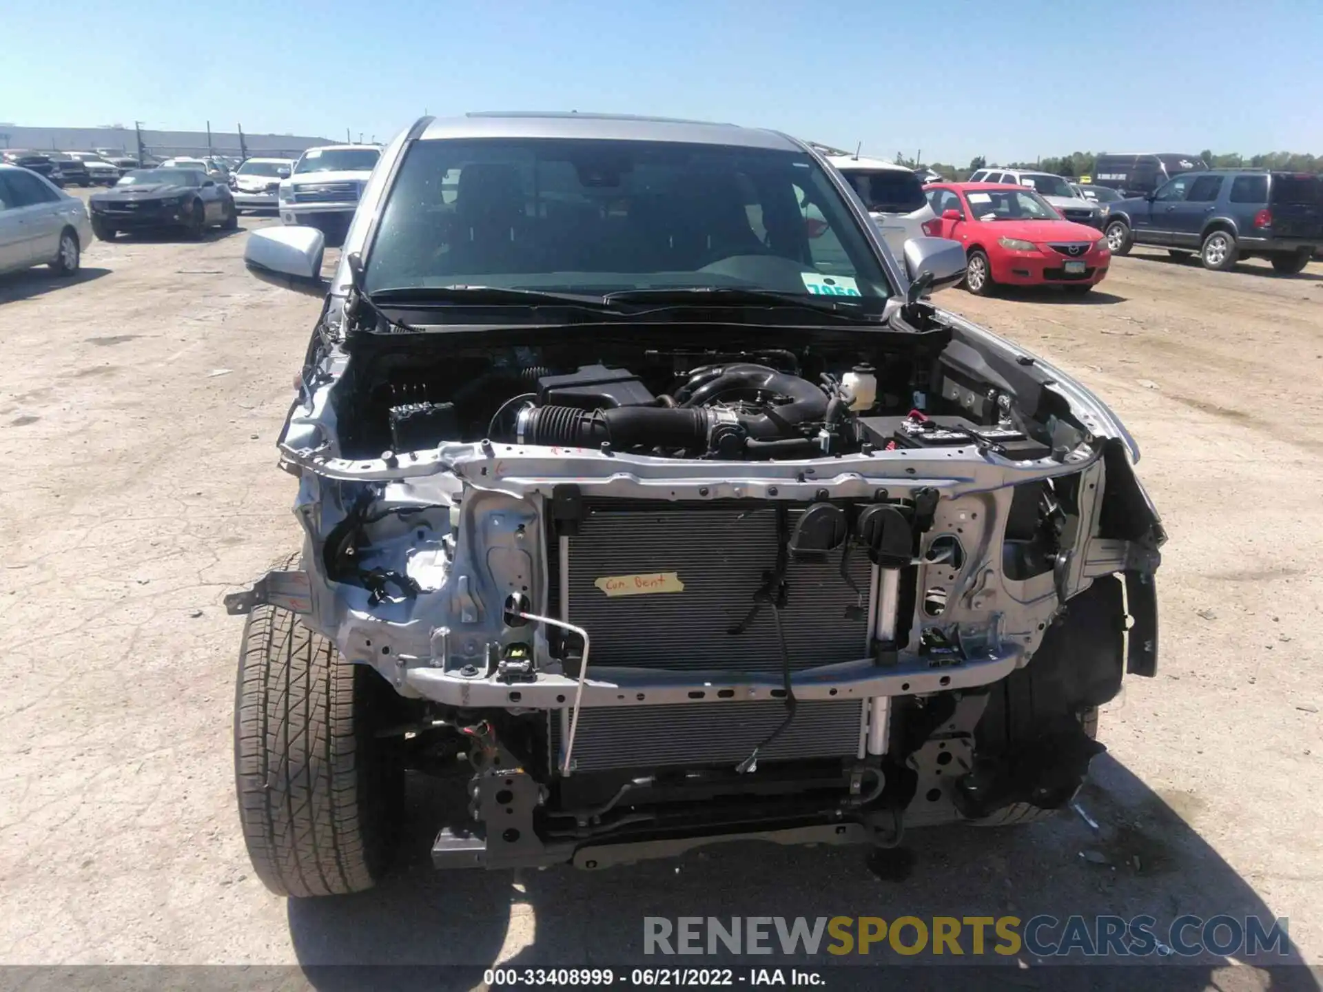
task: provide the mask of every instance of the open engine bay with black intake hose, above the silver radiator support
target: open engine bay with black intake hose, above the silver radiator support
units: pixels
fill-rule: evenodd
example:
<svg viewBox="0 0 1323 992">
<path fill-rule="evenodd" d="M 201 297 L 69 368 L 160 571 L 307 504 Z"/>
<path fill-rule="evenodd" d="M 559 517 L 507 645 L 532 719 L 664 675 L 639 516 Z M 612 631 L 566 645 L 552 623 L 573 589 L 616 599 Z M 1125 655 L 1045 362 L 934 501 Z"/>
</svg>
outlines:
<svg viewBox="0 0 1323 992">
<path fill-rule="evenodd" d="M 1008 384 L 978 384 L 958 347 L 905 344 L 796 352 L 603 341 L 593 364 L 582 348 L 486 345 L 437 368 L 388 353 L 335 402 L 351 427 L 340 438 L 349 458 L 482 439 L 722 460 L 970 443 L 1016 460 L 1050 454 L 1064 425 L 1036 423 L 1031 439 Z M 946 393 L 930 397 L 933 381 Z M 1078 439 L 1068 427 L 1056 443 Z"/>
</svg>

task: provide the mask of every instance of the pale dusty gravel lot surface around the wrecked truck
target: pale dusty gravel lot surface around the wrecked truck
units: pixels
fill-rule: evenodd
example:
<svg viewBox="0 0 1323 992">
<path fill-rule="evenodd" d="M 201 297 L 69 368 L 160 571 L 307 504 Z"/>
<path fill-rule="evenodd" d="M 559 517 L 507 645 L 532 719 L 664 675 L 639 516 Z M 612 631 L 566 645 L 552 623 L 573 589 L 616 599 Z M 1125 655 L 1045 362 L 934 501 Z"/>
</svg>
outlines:
<svg viewBox="0 0 1323 992">
<path fill-rule="evenodd" d="M 238 831 L 242 620 L 220 603 L 298 544 L 274 442 L 319 304 L 247 276 L 245 230 L 0 278 L 0 963 L 655 966 L 646 915 L 1036 913 L 1285 915 L 1294 960 L 1323 963 L 1323 265 L 1136 250 L 1086 299 L 942 296 L 1115 406 L 1171 534 L 1159 676 L 1105 710 L 1082 795 L 1102 837 L 1065 816 L 914 832 L 871 866 L 757 845 L 435 874 L 414 788 L 386 885 L 287 903 Z M 1225 964 L 1172 975 L 1270 987 Z"/>
</svg>

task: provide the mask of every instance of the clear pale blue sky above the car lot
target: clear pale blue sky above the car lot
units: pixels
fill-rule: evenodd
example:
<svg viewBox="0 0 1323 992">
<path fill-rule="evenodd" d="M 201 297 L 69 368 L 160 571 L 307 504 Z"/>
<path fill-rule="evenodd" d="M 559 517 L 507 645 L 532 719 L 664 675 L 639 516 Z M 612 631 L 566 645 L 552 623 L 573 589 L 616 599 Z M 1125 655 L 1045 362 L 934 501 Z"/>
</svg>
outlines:
<svg viewBox="0 0 1323 992">
<path fill-rule="evenodd" d="M 0 120 L 378 140 L 426 108 L 773 127 L 967 164 L 1323 153 L 1323 0 L 9 0 Z"/>
</svg>

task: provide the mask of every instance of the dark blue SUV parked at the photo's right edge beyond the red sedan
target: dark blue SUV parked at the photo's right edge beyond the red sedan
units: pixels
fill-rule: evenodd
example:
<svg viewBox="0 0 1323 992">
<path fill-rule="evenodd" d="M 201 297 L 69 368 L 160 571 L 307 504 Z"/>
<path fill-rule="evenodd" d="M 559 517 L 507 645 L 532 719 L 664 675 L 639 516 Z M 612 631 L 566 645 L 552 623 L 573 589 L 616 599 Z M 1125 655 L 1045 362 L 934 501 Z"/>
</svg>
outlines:
<svg viewBox="0 0 1323 992">
<path fill-rule="evenodd" d="M 1107 247 L 1166 247 L 1176 258 L 1197 251 L 1205 269 L 1266 258 L 1299 272 L 1323 245 L 1323 177 L 1267 169 L 1185 172 L 1143 197 L 1111 204 Z"/>
</svg>

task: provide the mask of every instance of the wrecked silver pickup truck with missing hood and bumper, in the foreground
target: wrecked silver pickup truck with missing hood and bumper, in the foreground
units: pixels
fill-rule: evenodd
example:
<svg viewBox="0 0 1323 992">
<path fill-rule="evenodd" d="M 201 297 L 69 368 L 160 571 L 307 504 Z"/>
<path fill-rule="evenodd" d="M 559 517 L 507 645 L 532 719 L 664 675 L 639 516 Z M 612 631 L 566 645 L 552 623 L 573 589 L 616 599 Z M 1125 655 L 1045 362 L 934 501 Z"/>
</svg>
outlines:
<svg viewBox="0 0 1323 992">
<path fill-rule="evenodd" d="M 245 258 L 324 298 L 279 439 L 303 549 L 226 598 L 274 891 L 378 880 L 406 775 L 455 796 L 439 868 L 1025 821 L 1154 675 L 1134 442 L 935 308 L 960 246 L 897 261 L 800 142 L 427 118 L 332 279 L 315 230 Z"/>
</svg>

